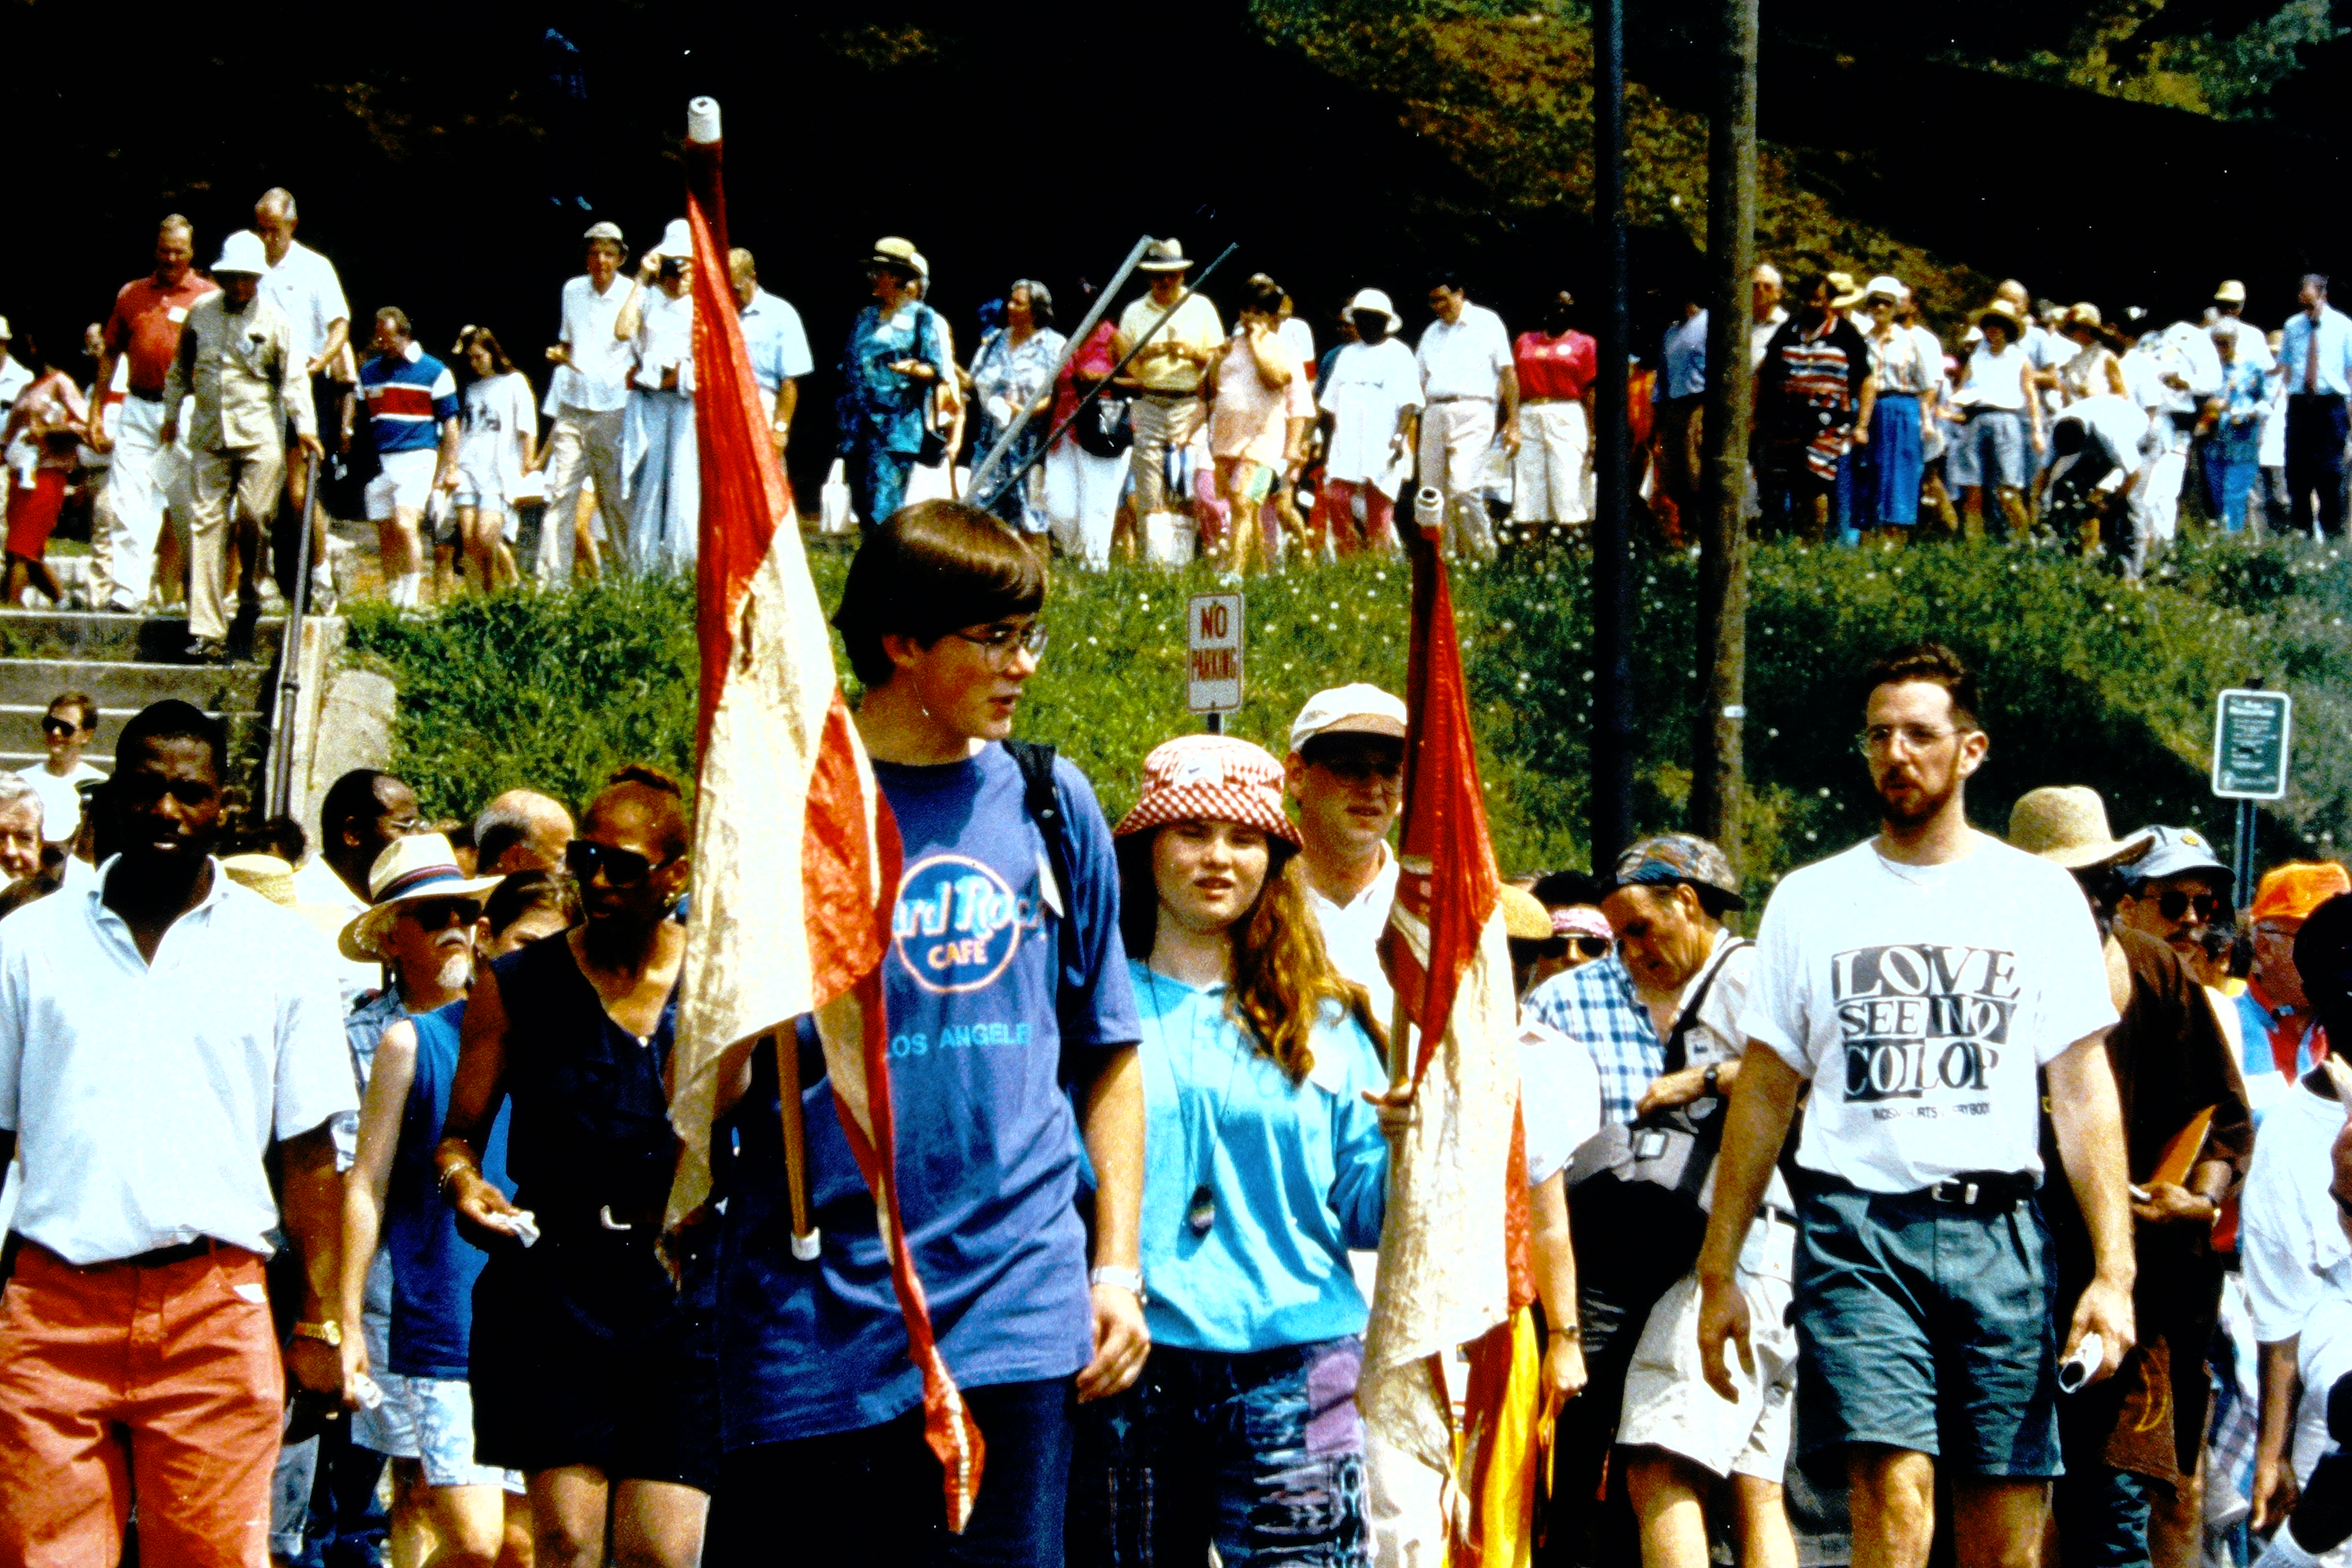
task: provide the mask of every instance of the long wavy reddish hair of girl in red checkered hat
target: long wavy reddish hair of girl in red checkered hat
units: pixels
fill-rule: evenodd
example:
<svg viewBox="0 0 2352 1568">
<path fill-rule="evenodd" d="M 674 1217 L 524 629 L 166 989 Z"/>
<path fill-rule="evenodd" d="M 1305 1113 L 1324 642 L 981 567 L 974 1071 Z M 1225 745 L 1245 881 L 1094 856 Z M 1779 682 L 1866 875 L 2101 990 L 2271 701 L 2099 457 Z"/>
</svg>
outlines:
<svg viewBox="0 0 2352 1568">
<path fill-rule="evenodd" d="M 1120 936 L 1127 957 L 1148 961 L 1160 936 L 1160 884 L 1152 879 L 1152 844 L 1167 827 L 1120 839 Z M 1371 1016 L 1371 997 L 1362 985 L 1331 969 L 1322 940 L 1322 922 L 1308 907 L 1305 872 L 1298 851 L 1268 837 L 1265 886 L 1249 914 L 1232 922 L 1232 973 L 1225 1011 L 1244 1034 L 1298 1084 L 1315 1067 L 1310 1046 L 1327 1001 L 1338 1001 L 1381 1056 L 1388 1056 L 1388 1030 Z"/>
</svg>

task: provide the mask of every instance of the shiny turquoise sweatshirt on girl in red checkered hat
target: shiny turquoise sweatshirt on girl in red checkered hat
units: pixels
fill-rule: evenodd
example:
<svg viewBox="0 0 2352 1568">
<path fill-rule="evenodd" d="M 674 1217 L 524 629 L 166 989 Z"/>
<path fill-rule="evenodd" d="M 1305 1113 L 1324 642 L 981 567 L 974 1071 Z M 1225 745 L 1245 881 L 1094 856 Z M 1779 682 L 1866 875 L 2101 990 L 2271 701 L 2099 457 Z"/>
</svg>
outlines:
<svg viewBox="0 0 2352 1568">
<path fill-rule="evenodd" d="M 1336 1004 L 1296 1086 L 1225 1011 L 1145 964 L 1143 1319 L 1155 1345 L 1244 1354 L 1364 1333 L 1348 1248 L 1381 1244 L 1388 1140 L 1362 1091 L 1385 1088 L 1362 1025 Z M 1216 1218 L 1190 1225 L 1207 1185 Z"/>
</svg>

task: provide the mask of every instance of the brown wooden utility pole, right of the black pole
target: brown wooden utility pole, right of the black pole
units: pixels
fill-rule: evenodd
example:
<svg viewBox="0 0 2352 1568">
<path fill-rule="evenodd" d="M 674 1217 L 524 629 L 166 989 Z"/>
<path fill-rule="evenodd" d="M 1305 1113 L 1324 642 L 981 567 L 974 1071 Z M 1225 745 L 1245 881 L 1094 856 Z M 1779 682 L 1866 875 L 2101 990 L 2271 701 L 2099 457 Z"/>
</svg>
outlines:
<svg viewBox="0 0 2352 1568">
<path fill-rule="evenodd" d="M 1722 0 L 1708 129 L 1708 414 L 1698 515 L 1698 639 L 1705 682 L 1691 766 L 1691 827 L 1738 863 L 1740 729 L 1748 722 L 1748 374 L 1757 226 L 1757 0 Z"/>
</svg>

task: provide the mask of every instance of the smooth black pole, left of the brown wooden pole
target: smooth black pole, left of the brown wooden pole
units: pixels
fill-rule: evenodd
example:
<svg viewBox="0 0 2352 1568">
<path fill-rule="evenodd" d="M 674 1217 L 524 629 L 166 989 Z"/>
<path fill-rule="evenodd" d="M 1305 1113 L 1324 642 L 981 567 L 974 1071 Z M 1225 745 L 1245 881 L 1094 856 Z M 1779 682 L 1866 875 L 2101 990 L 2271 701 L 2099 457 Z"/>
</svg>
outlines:
<svg viewBox="0 0 2352 1568">
<path fill-rule="evenodd" d="M 1632 842 L 1632 562 L 1625 484 L 1625 0 L 1592 7 L 1592 221 L 1602 230 L 1609 284 L 1595 388 L 1592 517 L 1592 870 L 1606 872 Z"/>
</svg>

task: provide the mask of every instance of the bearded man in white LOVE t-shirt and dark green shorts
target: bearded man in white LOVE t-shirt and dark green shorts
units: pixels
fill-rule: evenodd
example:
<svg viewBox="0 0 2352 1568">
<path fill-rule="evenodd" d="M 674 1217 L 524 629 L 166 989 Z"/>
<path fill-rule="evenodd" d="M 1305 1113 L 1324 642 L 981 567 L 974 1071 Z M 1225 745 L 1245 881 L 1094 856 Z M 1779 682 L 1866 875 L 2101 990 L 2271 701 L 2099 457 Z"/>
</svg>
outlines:
<svg viewBox="0 0 2352 1568">
<path fill-rule="evenodd" d="M 1797 1422 L 1846 1450 L 1856 1568 L 1915 1568 L 1952 1472 L 1959 1561 L 2034 1561 L 2058 1462 L 2058 1368 L 2133 1342 L 2124 1128 L 2098 929 L 2072 877 L 1969 827 L 1976 677 L 1919 644 L 1865 677 L 1875 839 L 1790 872 L 1757 933 L 1750 1037 L 1698 1255 L 1698 1347 L 1726 1399 L 1750 1359 L 1740 1241 L 1811 1079 L 1797 1145 Z M 2096 1276 L 2060 1352 L 2032 1201 L 2039 1077 Z"/>
</svg>

